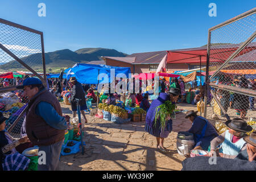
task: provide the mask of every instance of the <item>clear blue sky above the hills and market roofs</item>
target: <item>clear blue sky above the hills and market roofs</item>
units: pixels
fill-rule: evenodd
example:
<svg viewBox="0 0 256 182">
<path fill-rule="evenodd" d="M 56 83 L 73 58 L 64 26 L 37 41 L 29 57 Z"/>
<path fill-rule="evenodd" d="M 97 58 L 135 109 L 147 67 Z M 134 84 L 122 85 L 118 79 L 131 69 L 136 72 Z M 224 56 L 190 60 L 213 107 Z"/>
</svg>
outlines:
<svg viewBox="0 0 256 182">
<path fill-rule="evenodd" d="M 41 2 L 46 17 L 38 16 Z M 217 17 L 208 15 L 212 2 Z M 46 52 L 102 47 L 131 54 L 203 46 L 210 27 L 255 5 L 251 0 L 0 0 L 0 18 L 43 31 Z"/>
</svg>

